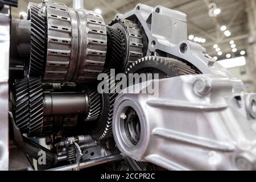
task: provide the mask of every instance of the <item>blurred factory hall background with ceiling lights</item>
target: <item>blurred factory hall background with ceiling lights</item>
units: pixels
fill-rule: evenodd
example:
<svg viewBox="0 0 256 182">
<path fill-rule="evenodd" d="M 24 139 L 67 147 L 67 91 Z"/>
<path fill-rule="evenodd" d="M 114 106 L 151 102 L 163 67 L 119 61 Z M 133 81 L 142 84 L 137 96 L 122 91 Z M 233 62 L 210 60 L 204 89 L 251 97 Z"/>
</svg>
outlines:
<svg viewBox="0 0 256 182">
<path fill-rule="evenodd" d="M 81 3 L 80 0 L 58 1 L 69 7 Z M 18 8 L 12 10 L 14 18 L 26 14 L 28 2 L 19 0 Z M 106 24 L 115 14 L 133 9 L 137 3 L 162 5 L 187 14 L 188 39 L 200 43 L 234 77 L 240 78 L 246 92 L 256 91 L 255 0 L 84 0 L 82 3 L 84 9 L 102 14 Z"/>
</svg>

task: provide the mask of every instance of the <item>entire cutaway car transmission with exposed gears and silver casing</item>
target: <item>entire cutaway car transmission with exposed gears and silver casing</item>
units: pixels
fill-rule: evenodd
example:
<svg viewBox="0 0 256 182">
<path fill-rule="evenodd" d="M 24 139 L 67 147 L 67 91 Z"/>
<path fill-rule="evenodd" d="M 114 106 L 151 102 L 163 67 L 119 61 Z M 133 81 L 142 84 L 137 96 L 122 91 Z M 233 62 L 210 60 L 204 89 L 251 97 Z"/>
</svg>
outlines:
<svg viewBox="0 0 256 182">
<path fill-rule="evenodd" d="M 21 19 L 10 6 L 0 169 L 256 169 L 256 94 L 187 40 L 185 14 L 138 4 L 106 24 L 59 2 L 30 2 Z"/>
</svg>

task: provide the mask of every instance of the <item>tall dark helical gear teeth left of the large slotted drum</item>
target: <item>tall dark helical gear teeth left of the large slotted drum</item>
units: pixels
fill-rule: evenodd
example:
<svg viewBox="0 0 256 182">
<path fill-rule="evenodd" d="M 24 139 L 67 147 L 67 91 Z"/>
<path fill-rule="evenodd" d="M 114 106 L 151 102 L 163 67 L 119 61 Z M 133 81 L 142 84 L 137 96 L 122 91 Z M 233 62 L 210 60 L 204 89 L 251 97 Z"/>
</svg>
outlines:
<svg viewBox="0 0 256 182">
<path fill-rule="evenodd" d="M 30 2 L 28 4 L 31 20 L 31 52 L 28 65 L 28 75 L 30 77 L 43 75 L 46 60 L 46 20 L 43 6 L 43 3 Z"/>
</svg>

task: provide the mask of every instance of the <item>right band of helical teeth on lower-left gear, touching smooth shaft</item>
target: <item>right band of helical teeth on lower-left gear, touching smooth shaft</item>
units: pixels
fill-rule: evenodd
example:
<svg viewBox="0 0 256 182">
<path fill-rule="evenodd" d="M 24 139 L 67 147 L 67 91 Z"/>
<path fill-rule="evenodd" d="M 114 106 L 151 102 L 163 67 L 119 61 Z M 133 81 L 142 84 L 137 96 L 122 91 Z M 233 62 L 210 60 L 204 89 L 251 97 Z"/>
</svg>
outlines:
<svg viewBox="0 0 256 182">
<path fill-rule="evenodd" d="M 28 81 L 30 93 L 30 126 L 29 137 L 42 134 L 43 127 L 43 88 L 40 78 L 30 78 Z"/>
</svg>

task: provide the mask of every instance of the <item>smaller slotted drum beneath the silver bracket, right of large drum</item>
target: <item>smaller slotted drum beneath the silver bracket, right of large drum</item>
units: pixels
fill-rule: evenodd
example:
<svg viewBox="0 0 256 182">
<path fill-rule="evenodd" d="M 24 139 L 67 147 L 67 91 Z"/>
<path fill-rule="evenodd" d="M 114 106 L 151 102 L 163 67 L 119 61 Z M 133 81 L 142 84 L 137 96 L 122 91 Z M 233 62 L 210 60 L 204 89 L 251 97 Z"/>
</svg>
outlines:
<svg viewBox="0 0 256 182">
<path fill-rule="evenodd" d="M 115 18 L 109 23 L 109 26 L 117 28 L 123 34 L 125 43 L 125 61 L 121 67 L 121 71 L 125 71 L 128 65 L 137 61 L 144 55 L 143 40 L 141 30 L 138 25 L 131 20 Z"/>
</svg>

